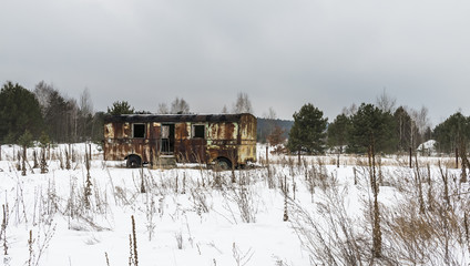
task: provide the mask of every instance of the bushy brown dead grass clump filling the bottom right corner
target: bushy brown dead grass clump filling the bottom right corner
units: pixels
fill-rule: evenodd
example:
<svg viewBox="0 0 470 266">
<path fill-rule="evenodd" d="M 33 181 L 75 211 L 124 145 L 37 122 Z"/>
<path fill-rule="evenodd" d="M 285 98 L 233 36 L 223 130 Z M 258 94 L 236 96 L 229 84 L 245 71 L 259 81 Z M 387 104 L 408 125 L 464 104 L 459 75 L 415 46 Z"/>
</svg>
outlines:
<svg viewBox="0 0 470 266">
<path fill-rule="evenodd" d="M 409 177 L 403 198 L 382 214 L 389 255 L 406 265 L 467 265 L 469 207 L 456 185 L 459 182 L 442 166 L 436 178 L 431 177 L 430 166 L 417 168 L 415 174 L 421 180 Z M 428 193 L 422 193 L 426 190 Z"/>
</svg>

